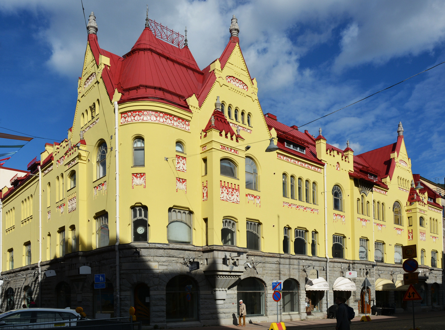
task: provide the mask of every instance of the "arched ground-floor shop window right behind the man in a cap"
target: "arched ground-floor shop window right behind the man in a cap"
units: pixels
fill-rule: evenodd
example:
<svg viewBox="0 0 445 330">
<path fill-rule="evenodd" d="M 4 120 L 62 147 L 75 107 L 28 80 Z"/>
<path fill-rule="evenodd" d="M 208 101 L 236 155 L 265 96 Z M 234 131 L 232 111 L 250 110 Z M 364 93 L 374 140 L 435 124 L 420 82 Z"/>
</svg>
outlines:
<svg viewBox="0 0 445 330">
<path fill-rule="evenodd" d="M 265 314 L 266 290 L 263 282 L 254 277 L 244 278 L 239 282 L 237 291 L 236 300 L 243 300 L 243 303 L 246 304 L 246 316 Z"/>
</svg>

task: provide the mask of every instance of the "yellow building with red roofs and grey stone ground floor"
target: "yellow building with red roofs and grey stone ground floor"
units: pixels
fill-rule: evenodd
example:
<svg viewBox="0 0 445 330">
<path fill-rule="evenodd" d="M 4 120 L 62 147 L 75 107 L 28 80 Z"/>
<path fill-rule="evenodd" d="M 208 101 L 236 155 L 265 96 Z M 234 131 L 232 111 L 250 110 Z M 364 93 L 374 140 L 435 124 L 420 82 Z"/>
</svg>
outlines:
<svg viewBox="0 0 445 330">
<path fill-rule="evenodd" d="M 148 17 L 122 57 L 99 47 L 93 13 L 88 28 L 73 127 L 2 191 L 2 310 L 135 306 L 145 323 L 195 326 L 232 324 L 243 299 L 269 321 L 280 280 L 283 320 L 326 317 L 338 295 L 399 312 L 411 244 L 417 309 L 443 306 L 440 196 L 411 172 L 401 123 L 354 155 L 263 115 L 235 16 L 202 70 Z"/>
</svg>

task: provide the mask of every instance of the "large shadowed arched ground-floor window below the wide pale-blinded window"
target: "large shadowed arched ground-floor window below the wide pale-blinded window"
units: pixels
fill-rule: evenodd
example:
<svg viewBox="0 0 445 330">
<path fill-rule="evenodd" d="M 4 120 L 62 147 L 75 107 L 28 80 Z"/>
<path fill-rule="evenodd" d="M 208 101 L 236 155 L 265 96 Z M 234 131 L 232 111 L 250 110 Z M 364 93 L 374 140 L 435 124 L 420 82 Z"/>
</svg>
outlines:
<svg viewBox="0 0 445 330">
<path fill-rule="evenodd" d="M 175 276 L 166 285 L 166 321 L 198 319 L 198 285 L 188 276 Z"/>
</svg>

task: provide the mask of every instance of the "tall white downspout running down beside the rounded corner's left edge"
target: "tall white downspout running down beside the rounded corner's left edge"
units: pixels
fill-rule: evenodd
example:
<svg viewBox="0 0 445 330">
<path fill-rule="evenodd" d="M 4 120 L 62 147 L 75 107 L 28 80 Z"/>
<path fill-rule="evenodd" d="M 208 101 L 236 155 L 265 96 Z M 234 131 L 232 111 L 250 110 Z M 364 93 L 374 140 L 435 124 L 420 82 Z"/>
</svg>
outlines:
<svg viewBox="0 0 445 330">
<path fill-rule="evenodd" d="M 115 141 L 115 161 L 116 161 L 116 243 L 114 247 L 116 249 L 116 300 L 117 300 L 117 317 L 121 316 L 121 276 L 120 276 L 120 262 L 119 262 L 119 243 L 120 238 L 120 223 L 119 223 L 119 131 L 118 131 L 118 115 L 119 106 L 117 101 L 114 101 L 114 141 Z"/>
</svg>

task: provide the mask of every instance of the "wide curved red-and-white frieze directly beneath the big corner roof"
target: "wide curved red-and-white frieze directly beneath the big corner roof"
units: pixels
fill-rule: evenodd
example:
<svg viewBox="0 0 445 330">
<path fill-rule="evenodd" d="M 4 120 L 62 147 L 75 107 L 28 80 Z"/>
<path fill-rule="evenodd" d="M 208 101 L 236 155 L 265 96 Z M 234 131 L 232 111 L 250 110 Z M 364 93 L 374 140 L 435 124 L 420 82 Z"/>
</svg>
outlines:
<svg viewBox="0 0 445 330">
<path fill-rule="evenodd" d="M 159 111 L 128 111 L 121 114 L 121 124 L 128 123 L 161 123 L 190 132 L 188 120 Z"/>
</svg>

